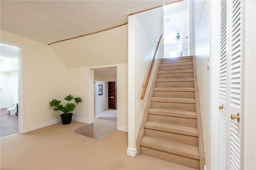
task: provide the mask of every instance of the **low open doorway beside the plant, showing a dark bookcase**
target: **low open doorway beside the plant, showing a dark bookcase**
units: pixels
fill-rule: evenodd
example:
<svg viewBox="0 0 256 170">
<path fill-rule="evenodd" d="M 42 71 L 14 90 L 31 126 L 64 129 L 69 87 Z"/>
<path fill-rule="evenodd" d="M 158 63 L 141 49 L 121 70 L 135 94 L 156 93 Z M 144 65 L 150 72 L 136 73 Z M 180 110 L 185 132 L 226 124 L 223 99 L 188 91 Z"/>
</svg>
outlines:
<svg viewBox="0 0 256 170">
<path fill-rule="evenodd" d="M 117 68 L 94 69 L 94 138 L 109 136 L 117 128 Z"/>
</svg>

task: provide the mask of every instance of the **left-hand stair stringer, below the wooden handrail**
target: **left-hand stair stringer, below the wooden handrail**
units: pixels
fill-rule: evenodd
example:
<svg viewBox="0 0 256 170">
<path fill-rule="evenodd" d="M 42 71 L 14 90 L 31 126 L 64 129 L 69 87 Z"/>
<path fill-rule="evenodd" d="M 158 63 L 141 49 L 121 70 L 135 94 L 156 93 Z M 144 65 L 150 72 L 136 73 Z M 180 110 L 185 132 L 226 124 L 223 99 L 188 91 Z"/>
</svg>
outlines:
<svg viewBox="0 0 256 170">
<path fill-rule="evenodd" d="M 140 140 L 142 139 L 142 137 L 144 136 L 144 133 L 145 133 L 144 126 L 145 126 L 145 123 L 147 122 L 147 111 L 151 107 L 151 98 L 153 97 L 153 94 L 154 94 L 154 87 L 155 87 L 157 72 L 159 70 L 160 63 L 161 63 L 161 58 L 159 58 L 157 61 L 157 67 L 156 67 L 155 74 L 153 77 L 152 86 L 150 89 L 150 93 L 148 94 L 148 97 L 147 97 L 146 107 L 145 107 L 145 110 L 143 113 L 139 133 L 138 133 L 137 140 L 136 140 L 137 155 L 140 154 Z"/>
</svg>

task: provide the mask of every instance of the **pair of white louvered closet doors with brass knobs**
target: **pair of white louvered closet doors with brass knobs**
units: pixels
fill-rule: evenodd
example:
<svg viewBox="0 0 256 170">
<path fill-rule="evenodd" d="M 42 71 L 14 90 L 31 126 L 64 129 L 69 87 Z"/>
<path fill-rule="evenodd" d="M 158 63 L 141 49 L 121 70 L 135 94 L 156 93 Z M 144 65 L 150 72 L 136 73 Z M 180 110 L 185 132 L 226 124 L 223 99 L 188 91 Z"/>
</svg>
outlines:
<svg viewBox="0 0 256 170">
<path fill-rule="evenodd" d="M 219 169 L 241 169 L 242 3 L 221 1 Z"/>
</svg>

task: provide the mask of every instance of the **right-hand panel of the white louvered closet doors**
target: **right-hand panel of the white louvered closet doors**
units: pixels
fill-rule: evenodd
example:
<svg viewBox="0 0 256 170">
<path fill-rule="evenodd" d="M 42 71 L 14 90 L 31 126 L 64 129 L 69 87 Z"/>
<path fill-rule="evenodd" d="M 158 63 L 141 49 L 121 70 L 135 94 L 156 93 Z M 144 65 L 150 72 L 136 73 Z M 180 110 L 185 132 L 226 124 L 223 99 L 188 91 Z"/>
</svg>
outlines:
<svg viewBox="0 0 256 170">
<path fill-rule="evenodd" d="M 241 117 L 241 10 L 242 2 L 230 2 L 230 54 L 229 54 L 229 168 L 241 169 L 240 118 Z M 232 115 L 232 116 L 231 116 Z M 238 116 L 236 118 L 236 116 Z M 231 119 L 233 118 L 233 119 Z"/>
</svg>

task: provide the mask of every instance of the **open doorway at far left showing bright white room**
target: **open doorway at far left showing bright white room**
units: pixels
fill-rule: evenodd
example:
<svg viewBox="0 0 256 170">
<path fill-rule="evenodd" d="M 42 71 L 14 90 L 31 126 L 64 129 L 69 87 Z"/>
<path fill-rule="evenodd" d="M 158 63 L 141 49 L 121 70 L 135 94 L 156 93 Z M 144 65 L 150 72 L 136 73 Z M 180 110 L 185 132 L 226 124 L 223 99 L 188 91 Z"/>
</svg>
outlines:
<svg viewBox="0 0 256 170">
<path fill-rule="evenodd" d="M 0 43 L 0 137 L 19 130 L 19 59 L 20 47 Z"/>
</svg>

